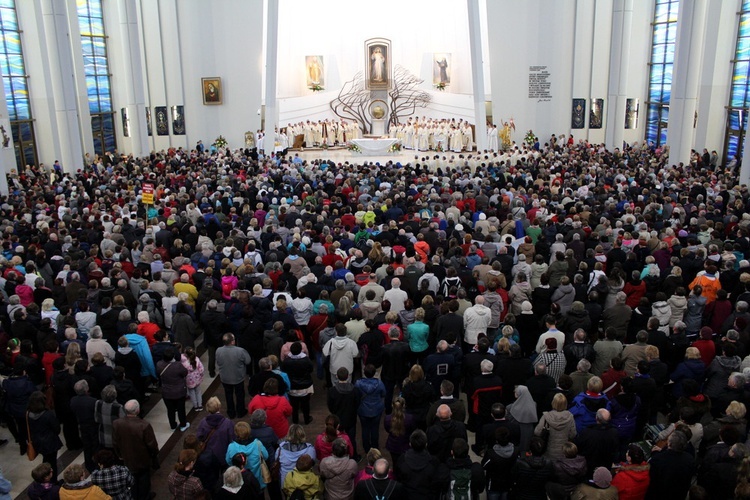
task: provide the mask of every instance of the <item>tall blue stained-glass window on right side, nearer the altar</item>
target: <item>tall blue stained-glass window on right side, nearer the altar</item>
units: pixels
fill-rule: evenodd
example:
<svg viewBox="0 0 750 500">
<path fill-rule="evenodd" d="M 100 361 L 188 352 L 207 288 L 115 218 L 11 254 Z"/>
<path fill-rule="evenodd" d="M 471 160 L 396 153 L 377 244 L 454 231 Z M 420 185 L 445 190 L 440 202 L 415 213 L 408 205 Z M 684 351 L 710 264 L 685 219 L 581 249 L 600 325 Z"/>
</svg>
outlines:
<svg viewBox="0 0 750 500">
<path fill-rule="evenodd" d="M 667 141 L 679 4 L 679 0 L 656 0 L 654 9 L 648 101 L 646 102 L 648 105 L 646 140 L 657 146 Z"/>
</svg>

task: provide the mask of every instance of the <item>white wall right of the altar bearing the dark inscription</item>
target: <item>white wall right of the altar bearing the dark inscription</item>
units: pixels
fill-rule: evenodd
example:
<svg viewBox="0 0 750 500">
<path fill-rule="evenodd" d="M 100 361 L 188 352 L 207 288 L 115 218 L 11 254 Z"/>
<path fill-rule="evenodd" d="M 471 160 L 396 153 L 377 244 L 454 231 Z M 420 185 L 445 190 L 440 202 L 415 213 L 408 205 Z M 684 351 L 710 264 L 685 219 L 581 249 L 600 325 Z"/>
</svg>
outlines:
<svg viewBox="0 0 750 500">
<path fill-rule="evenodd" d="M 638 129 L 625 131 L 625 140 L 642 140 L 648 84 L 650 22 L 653 3 L 634 2 L 630 44 L 628 95 L 640 99 Z M 612 38 L 609 0 L 493 0 L 487 2 L 490 26 L 492 111 L 495 123 L 513 117 L 513 139 L 523 140 L 531 129 L 541 141 L 551 134 L 573 133 L 603 142 L 605 129 L 588 130 L 590 99 L 603 98 L 604 123 L 613 103 L 607 99 Z M 528 97 L 529 66 L 547 66 L 551 99 Z M 572 130 L 572 99 L 586 99 L 586 128 Z M 624 128 L 624 123 L 621 125 Z"/>
</svg>

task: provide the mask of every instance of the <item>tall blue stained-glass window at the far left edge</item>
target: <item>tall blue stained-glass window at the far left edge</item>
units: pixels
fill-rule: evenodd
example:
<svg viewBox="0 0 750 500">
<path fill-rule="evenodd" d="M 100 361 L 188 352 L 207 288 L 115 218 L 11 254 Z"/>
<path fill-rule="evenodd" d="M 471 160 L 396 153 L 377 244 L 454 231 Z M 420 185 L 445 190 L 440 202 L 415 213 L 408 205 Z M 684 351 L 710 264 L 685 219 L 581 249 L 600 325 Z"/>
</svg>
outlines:
<svg viewBox="0 0 750 500">
<path fill-rule="evenodd" d="M 20 170 L 26 165 L 39 163 L 15 0 L 0 0 L 0 40 L 0 73 L 3 76 L 11 128 L 4 132 L 13 136 L 16 164 Z M 0 135 L 0 140 L 2 137 Z"/>
</svg>

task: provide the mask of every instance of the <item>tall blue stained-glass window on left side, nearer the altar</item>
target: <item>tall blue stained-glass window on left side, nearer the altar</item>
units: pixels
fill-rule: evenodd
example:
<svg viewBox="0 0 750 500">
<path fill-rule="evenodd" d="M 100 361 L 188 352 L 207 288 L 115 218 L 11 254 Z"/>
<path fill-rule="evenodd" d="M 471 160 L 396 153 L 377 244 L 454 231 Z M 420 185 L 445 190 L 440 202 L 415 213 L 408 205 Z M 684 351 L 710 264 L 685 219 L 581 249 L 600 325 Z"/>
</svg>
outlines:
<svg viewBox="0 0 750 500">
<path fill-rule="evenodd" d="M 109 86 L 111 75 L 107 62 L 102 0 L 77 0 L 77 5 L 94 151 L 98 154 L 114 152 L 117 149 L 115 113 Z"/>
</svg>

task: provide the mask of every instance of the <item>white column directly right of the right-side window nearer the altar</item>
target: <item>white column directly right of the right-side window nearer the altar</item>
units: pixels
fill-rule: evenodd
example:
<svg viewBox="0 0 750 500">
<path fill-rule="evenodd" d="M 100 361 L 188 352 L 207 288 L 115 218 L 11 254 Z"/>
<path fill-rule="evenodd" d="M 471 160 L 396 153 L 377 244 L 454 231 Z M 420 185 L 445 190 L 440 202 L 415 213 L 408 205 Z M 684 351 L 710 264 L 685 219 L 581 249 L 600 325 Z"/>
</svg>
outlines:
<svg viewBox="0 0 750 500">
<path fill-rule="evenodd" d="M 669 101 L 669 163 L 690 163 L 694 147 L 693 121 L 698 109 L 698 89 L 706 35 L 706 1 L 682 0 L 677 18 L 672 97 Z"/>
</svg>

